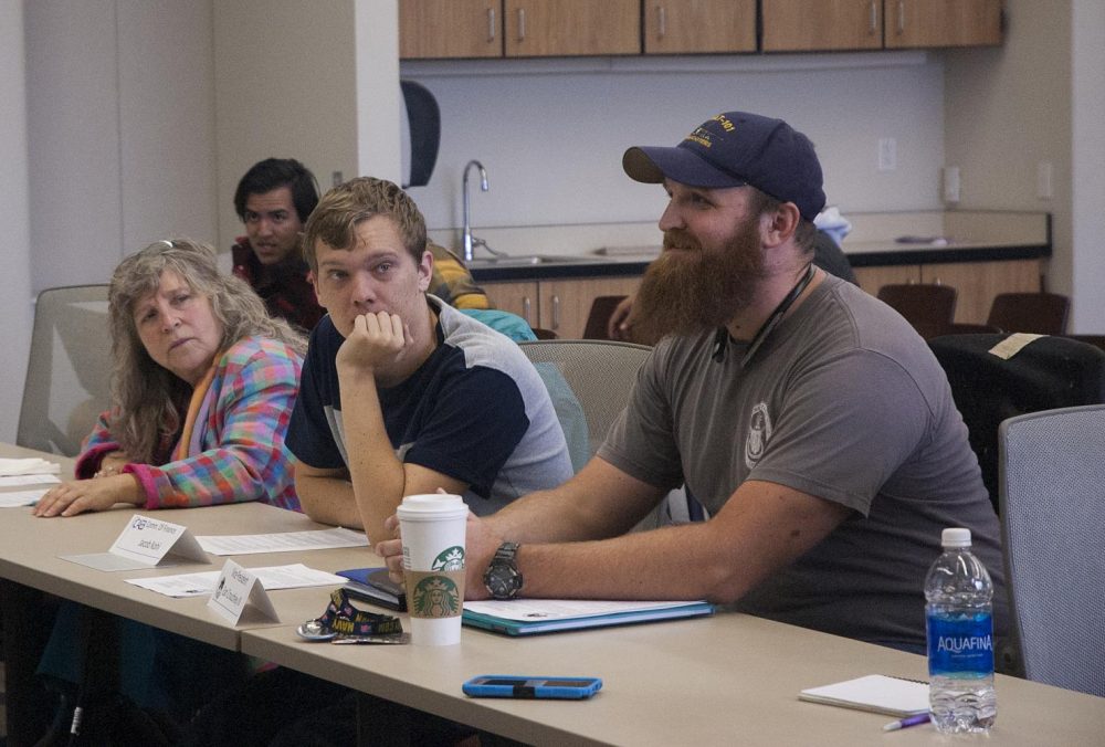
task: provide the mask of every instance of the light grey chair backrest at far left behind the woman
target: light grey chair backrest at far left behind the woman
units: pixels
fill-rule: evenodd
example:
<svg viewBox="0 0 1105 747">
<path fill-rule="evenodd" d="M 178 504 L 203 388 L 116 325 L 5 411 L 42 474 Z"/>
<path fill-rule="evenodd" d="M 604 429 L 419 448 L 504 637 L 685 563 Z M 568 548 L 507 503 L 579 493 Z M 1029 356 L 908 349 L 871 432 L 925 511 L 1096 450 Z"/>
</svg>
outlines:
<svg viewBox="0 0 1105 747">
<path fill-rule="evenodd" d="M 110 401 L 107 286 L 48 288 L 34 304 L 15 442 L 74 456 Z"/>
</svg>

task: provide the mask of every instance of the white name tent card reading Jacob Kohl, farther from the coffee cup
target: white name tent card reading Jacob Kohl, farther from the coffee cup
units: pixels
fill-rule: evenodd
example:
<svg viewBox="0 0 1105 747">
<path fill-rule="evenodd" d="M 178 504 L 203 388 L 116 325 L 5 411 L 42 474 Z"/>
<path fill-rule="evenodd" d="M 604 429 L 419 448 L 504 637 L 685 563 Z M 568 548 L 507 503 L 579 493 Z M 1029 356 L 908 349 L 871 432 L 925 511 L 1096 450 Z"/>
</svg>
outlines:
<svg viewBox="0 0 1105 747">
<path fill-rule="evenodd" d="M 140 514 L 130 517 L 107 553 L 60 557 L 98 570 L 138 570 L 181 560 L 211 562 L 188 527 Z"/>
</svg>

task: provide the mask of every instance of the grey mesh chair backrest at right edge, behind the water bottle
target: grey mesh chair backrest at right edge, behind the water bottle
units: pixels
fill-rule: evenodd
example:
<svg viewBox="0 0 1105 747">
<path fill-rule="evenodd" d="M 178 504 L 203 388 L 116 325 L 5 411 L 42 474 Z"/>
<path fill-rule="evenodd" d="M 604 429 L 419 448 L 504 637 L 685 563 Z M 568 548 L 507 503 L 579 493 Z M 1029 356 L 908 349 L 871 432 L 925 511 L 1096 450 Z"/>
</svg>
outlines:
<svg viewBox="0 0 1105 747">
<path fill-rule="evenodd" d="M 1105 406 L 1001 424 L 1001 525 L 1029 680 L 1105 696 Z"/>
</svg>

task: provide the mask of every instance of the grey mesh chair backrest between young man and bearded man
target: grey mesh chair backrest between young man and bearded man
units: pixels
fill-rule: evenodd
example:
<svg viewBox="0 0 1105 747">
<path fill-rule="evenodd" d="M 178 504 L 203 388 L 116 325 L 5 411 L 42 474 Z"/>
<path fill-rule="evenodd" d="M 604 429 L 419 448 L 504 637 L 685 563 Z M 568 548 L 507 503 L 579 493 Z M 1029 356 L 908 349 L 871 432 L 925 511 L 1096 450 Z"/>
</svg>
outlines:
<svg viewBox="0 0 1105 747">
<path fill-rule="evenodd" d="M 610 425 L 625 408 L 636 371 L 652 353 L 644 345 L 614 340 L 537 340 L 519 343 L 518 347 L 541 372 L 546 386 L 551 366 L 570 387 L 587 422 L 588 456 L 599 450 Z M 558 410 L 557 414 L 562 413 Z M 568 431 L 566 427 L 566 436 Z"/>
</svg>

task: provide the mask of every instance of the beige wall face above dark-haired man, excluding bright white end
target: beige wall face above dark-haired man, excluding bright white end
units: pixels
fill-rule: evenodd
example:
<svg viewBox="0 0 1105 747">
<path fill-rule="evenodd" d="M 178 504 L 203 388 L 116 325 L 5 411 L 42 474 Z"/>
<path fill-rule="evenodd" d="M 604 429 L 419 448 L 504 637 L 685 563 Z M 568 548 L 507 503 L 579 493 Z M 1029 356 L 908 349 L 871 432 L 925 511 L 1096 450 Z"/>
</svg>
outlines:
<svg viewBox="0 0 1105 747">
<path fill-rule="evenodd" d="M 354 4 L 214 3 L 219 246 L 240 235 L 234 189 L 255 162 L 297 158 L 319 187 L 357 169 Z"/>
</svg>

